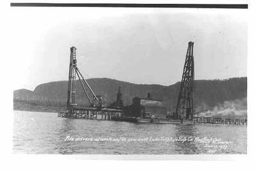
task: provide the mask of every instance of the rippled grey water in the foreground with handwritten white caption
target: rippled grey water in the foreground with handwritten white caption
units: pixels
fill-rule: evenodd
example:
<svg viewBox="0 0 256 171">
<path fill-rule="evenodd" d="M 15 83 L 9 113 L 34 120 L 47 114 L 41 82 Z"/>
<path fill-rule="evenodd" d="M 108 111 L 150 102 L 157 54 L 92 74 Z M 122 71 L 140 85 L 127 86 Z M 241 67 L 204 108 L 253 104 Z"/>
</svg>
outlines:
<svg viewBox="0 0 256 171">
<path fill-rule="evenodd" d="M 247 148 L 246 126 L 135 124 L 67 119 L 56 113 L 13 114 L 14 153 L 246 154 Z"/>
</svg>

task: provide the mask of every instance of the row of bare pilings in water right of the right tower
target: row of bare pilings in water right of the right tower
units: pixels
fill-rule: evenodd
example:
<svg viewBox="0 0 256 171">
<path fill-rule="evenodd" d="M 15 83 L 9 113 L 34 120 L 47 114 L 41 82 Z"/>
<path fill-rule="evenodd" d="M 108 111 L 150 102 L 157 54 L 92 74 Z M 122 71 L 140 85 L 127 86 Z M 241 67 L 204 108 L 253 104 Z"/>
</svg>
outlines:
<svg viewBox="0 0 256 171">
<path fill-rule="evenodd" d="M 197 123 L 208 123 L 208 124 L 247 124 L 246 118 L 225 118 L 225 117 L 194 117 L 193 121 Z"/>
</svg>

